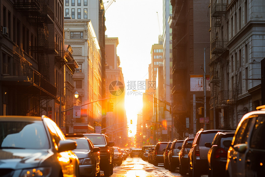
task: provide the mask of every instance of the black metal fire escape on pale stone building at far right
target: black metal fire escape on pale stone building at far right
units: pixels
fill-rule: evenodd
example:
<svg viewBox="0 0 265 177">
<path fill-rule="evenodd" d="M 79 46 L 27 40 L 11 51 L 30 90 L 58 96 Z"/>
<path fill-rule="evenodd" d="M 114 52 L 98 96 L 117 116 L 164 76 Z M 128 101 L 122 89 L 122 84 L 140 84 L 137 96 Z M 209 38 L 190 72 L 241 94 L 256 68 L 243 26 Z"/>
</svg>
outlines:
<svg viewBox="0 0 265 177">
<path fill-rule="evenodd" d="M 226 67 L 226 61 L 222 58 L 228 55 L 226 44 L 227 39 L 224 39 L 222 34 L 219 37 L 218 32 L 221 29 L 222 20 L 226 20 L 226 3 L 214 3 L 211 9 L 212 29 L 214 37 L 211 41 L 211 60 L 210 60 L 210 82 L 212 83 L 212 92 L 210 98 L 210 107 L 223 107 L 236 103 L 239 94 L 239 74 L 235 74 L 235 82 L 232 90 L 221 90 L 221 72 L 222 68 Z M 216 35 L 216 36 L 215 36 Z M 236 69 L 236 71 L 239 71 Z"/>
</svg>

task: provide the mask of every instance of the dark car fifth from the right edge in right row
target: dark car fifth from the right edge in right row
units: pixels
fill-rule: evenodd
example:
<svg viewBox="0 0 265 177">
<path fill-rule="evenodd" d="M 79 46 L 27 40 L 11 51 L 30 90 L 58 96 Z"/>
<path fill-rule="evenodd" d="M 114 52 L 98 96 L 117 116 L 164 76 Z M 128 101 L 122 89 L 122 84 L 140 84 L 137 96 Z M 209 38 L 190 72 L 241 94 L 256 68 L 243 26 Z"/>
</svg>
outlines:
<svg viewBox="0 0 265 177">
<path fill-rule="evenodd" d="M 182 146 L 184 140 L 174 140 L 171 144 L 170 150 L 168 152 L 169 161 L 169 171 L 174 172 L 177 167 L 179 167 L 178 154 L 180 152 L 177 147 Z"/>
</svg>

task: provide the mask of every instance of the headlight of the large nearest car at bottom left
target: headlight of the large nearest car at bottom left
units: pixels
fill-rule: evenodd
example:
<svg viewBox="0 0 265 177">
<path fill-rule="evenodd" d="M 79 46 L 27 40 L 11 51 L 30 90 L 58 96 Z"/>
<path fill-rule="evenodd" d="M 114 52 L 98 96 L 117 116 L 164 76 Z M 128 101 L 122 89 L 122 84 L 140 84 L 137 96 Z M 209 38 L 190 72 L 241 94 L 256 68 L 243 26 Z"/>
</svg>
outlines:
<svg viewBox="0 0 265 177">
<path fill-rule="evenodd" d="M 23 169 L 19 177 L 30 177 L 30 176 L 50 176 L 51 175 L 51 167 L 38 167 L 38 168 L 30 168 Z"/>
</svg>

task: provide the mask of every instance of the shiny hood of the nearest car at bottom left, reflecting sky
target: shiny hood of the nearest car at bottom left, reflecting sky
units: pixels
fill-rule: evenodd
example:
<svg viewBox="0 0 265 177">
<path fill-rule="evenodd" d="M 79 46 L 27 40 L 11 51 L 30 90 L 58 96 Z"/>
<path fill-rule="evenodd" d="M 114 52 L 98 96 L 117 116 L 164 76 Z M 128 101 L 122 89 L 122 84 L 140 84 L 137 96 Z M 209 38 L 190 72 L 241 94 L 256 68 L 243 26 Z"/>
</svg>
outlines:
<svg viewBox="0 0 265 177">
<path fill-rule="evenodd" d="M 0 168 L 36 167 L 54 153 L 51 150 L 0 149 Z"/>
</svg>

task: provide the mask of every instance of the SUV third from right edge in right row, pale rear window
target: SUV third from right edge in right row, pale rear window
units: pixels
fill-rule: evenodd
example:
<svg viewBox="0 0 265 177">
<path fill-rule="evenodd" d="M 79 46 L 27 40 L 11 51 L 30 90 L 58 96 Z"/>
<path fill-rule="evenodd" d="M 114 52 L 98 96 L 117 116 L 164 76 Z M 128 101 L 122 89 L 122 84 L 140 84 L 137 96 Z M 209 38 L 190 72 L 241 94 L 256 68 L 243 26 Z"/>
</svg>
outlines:
<svg viewBox="0 0 265 177">
<path fill-rule="evenodd" d="M 191 147 L 190 152 L 188 154 L 190 177 L 200 177 L 202 173 L 203 174 L 208 173 L 207 154 L 210 148 L 205 147 L 205 143 L 213 142 L 214 136 L 217 132 L 225 132 L 225 131 L 227 130 L 201 129 L 196 133 L 192 145 L 190 143 L 187 143 L 187 146 Z"/>
</svg>

